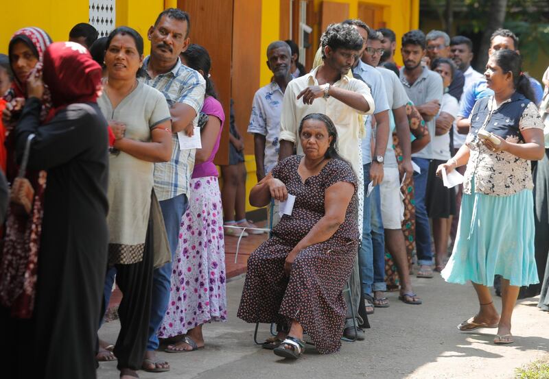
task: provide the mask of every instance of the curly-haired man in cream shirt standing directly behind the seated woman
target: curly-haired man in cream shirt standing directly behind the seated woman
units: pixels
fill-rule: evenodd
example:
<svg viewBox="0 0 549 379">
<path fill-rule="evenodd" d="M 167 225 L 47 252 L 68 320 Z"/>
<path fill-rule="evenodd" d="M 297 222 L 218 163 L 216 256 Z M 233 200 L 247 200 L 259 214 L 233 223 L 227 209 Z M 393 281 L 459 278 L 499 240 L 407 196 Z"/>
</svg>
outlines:
<svg viewBox="0 0 549 379">
<path fill-rule="evenodd" d="M 320 38 L 320 44 L 323 64 L 311 73 L 292 80 L 285 90 L 280 121 L 279 160 L 294 154 L 294 147 L 298 154 L 303 154 L 298 136 L 303 117 L 311 113 L 326 114 L 334 121 L 338 131 L 339 154 L 351 163 L 357 175 L 360 200 L 364 196 L 360 148 L 364 121 L 360 115 L 372 114 L 374 101 L 370 88 L 361 80 L 347 74 L 362 51 L 363 40 L 353 26 L 332 24 Z M 381 181 L 382 178 L 378 180 Z M 358 213 L 359 225 L 362 225 L 362 209 Z M 360 293 L 358 276 L 358 264 L 355 262 L 349 280 L 353 294 L 346 298 L 353 305 L 356 304 L 356 290 Z M 348 314 L 347 319 L 352 321 L 353 317 L 349 318 Z M 364 339 L 364 334 L 355 337 Z"/>
</svg>

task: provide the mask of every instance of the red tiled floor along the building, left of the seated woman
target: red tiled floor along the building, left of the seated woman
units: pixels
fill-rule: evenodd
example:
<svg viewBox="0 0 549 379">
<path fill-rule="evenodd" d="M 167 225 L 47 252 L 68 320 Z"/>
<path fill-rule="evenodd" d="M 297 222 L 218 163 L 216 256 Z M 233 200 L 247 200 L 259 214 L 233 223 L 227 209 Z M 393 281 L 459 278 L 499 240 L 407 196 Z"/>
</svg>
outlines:
<svg viewBox="0 0 549 379">
<path fill-rule="evenodd" d="M 256 225 L 259 228 L 264 228 L 265 224 L 266 221 L 262 221 Z M 239 276 L 241 273 L 246 272 L 248 257 L 255 249 L 257 249 L 259 245 L 261 245 L 263 241 L 266 241 L 267 238 L 268 234 L 250 234 L 247 237 L 243 237 L 240 241 L 238 256 L 236 256 L 238 238 L 233 236 L 225 236 L 225 270 L 227 279 L 234 278 L 235 276 Z M 236 262 L 235 256 L 237 258 Z M 122 294 L 117 287 L 110 296 L 108 309 L 110 310 L 111 308 L 118 307 L 121 299 Z"/>
</svg>

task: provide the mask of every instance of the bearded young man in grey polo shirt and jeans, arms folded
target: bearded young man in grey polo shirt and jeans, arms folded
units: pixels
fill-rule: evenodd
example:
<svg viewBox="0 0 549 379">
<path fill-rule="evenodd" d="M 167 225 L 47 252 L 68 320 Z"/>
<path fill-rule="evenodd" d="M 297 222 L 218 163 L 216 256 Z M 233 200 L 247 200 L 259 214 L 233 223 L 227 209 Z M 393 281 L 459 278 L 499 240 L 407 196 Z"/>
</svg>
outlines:
<svg viewBox="0 0 549 379">
<path fill-rule="evenodd" d="M 425 56 L 425 34 L 421 30 L 412 30 L 402 36 L 401 47 L 404 67 L 400 69 L 400 80 L 406 94 L 417 107 L 431 136 L 435 135 L 434 117 L 439 113 L 443 97 L 442 77 L 438 73 L 423 67 L 421 60 Z M 425 191 L 430 160 L 433 158 L 432 142 L 421 151 L 412 154 L 412 160 L 419 166 L 421 173 L 414 173 L 414 192 L 416 206 L 416 248 L 420 266 L 418 278 L 432 278 L 432 249 L 429 218 L 425 207 Z"/>
</svg>

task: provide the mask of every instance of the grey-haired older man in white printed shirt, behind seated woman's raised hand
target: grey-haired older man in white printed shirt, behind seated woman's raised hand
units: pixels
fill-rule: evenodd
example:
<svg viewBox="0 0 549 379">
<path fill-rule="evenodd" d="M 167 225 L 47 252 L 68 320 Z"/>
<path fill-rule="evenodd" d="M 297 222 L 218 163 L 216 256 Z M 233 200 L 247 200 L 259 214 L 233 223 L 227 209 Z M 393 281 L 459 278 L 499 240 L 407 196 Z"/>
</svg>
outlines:
<svg viewBox="0 0 549 379">
<path fill-rule="evenodd" d="M 267 66 L 273 80 L 255 93 L 248 124 L 248 133 L 253 133 L 257 182 L 265 178 L 279 160 L 280 116 L 284 92 L 293 79 L 291 63 L 290 45 L 284 41 L 271 42 L 267 47 Z M 279 221 L 278 204 L 275 204 L 271 228 Z"/>
</svg>

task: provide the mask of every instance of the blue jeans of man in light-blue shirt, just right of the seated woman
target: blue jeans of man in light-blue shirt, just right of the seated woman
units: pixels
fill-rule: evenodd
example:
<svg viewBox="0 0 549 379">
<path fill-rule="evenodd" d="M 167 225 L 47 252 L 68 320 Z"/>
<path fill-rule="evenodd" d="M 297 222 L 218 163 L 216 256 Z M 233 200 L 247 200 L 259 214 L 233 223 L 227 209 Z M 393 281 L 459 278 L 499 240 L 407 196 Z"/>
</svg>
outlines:
<svg viewBox="0 0 549 379">
<path fill-rule="evenodd" d="M 364 164 L 364 215 L 362 216 L 362 243 L 358 253 L 362 291 L 372 295 L 373 291 L 386 291 L 385 283 L 385 236 L 382 223 L 381 195 L 379 186 L 373 188 L 370 197 L 370 163 Z"/>
</svg>

